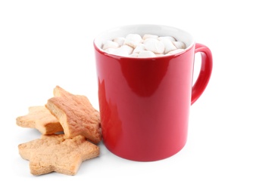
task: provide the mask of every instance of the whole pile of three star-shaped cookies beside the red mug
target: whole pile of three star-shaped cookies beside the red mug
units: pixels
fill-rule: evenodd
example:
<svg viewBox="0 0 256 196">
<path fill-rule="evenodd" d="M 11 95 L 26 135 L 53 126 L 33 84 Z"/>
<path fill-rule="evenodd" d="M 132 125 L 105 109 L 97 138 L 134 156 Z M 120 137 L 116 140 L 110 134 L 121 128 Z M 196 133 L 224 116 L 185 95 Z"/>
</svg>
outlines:
<svg viewBox="0 0 256 196">
<path fill-rule="evenodd" d="M 40 139 L 18 145 L 20 156 L 30 161 L 33 175 L 75 175 L 83 161 L 99 155 L 100 116 L 86 96 L 56 86 L 45 106 L 31 106 L 16 123 L 42 133 Z"/>
</svg>

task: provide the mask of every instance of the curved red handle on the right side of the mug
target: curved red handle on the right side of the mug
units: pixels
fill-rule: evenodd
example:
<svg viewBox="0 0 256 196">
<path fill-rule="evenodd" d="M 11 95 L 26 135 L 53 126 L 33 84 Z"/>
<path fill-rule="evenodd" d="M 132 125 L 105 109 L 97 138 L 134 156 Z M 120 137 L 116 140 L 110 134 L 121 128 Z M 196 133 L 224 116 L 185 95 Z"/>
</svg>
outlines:
<svg viewBox="0 0 256 196">
<path fill-rule="evenodd" d="M 198 52 L 201 53 L 201 69 L 192 87 L 191 105 L 198 100 L 204 92 L 205 87 L 208 85 L 213 65 L 211 51 L 208 47 L 203 44 L 195 43 L 195 53 Z"/>
</svg>

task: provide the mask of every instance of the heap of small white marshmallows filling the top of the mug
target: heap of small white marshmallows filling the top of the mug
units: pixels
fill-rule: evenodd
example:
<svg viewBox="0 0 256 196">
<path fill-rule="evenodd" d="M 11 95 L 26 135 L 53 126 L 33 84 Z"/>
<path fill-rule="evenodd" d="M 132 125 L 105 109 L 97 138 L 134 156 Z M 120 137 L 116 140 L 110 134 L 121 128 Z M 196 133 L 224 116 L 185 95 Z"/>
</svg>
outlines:
<svg viewBox="0 0 256 196">
<path fill-rule="evenodd" d="M 101 48 L 108 54 L 121 57 L 164 57 L 181 53 L 186 44 L 172 36 L 128 34 L 125 38 L 105 41 Z"/>
</svg>

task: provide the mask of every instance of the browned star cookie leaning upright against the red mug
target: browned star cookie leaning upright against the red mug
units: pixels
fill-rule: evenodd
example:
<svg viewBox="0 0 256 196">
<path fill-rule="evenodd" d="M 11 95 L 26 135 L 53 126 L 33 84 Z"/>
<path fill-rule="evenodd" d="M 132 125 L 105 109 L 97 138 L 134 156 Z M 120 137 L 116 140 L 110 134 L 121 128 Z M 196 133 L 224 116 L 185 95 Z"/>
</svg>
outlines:
<svg viewBox="0 0 256 196">
<path fill-rule="evenodd" d="M 54 97 L 45 107 L 61 123 L 67 138 L 82 135 L 95 144 L 101 141 L 100 115 L 86 96 L 74 95 L 56 86 Z"/>
</svg>

